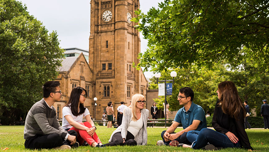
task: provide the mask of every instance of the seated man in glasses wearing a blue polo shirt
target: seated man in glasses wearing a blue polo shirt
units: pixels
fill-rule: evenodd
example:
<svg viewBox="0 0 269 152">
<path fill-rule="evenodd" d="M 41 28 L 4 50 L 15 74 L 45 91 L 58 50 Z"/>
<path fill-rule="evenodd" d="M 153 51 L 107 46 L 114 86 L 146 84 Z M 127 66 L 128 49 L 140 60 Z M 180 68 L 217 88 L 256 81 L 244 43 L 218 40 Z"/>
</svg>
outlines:
<svg viewBox="0 0 269 152">
<path fill-rule="evenodd" d="M 190 130 L 200 131 L 207 128 L 207 120 L 203 108 L 193 103 L 194 93 L 190 87 L 179 90 L 177 100 L 184 107 L 177 111 L 173 124 L 161 133 L 163 140 L 157 141 L 157 145 L 178 146 L 179 143 L 191 144 L 186 135 Z M 175 133 L 178 125 L 182 124 L 183 130 Z"/>
</svg>

